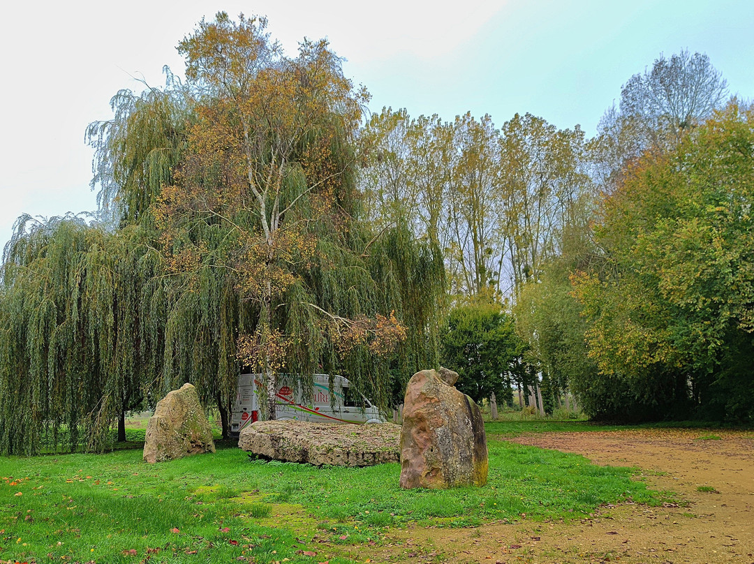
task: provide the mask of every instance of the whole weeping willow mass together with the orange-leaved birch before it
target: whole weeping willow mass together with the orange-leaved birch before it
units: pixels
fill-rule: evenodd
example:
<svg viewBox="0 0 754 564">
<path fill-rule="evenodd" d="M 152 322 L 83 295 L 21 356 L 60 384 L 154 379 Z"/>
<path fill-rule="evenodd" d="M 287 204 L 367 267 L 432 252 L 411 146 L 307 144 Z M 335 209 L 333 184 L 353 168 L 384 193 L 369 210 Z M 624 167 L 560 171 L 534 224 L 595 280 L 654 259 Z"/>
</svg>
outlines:
<svg viewBox="0 0 754 564">
<path fill-rule="evenodd" d="M 284 57 L 265 20 L 218 14 L 179 50 L 185 84 L 91 124 L 97 221 L 23 217 L 0 284 L 0 450 L 107 446 L 183 382 L 220 408 L 239 369 L 340 373 L 388 408 L 437 366 L 443 260 L 369 231 L 354 92 L 324 41 Z M 269 410 L 268 415 L 274 414 Z"/>
</svg>

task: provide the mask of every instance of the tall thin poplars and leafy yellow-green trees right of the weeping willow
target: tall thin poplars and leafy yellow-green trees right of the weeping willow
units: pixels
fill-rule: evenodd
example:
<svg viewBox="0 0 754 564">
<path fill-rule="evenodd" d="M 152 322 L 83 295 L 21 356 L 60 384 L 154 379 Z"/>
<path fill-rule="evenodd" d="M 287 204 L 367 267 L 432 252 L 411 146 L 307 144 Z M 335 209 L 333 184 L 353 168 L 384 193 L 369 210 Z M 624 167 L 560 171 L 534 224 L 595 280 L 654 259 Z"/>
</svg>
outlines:
<svg viewBox="0 0 754 564">
<path fill-rule="evenodd" d="M 591 139 L 529 114 L 373 115 L 368 218 L 443 250 L 459 386 L 539 384 L 548 412 L 570 390 L 593 418 L 751 421 L 751 115 L 688 51 L 633 75 Z M 494 330 L 490 304 L 511 316 Z M 500 359 L 489 380 L 483 357 Z"/>
</svg>

